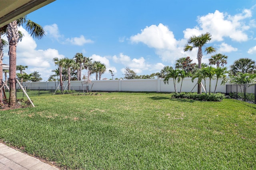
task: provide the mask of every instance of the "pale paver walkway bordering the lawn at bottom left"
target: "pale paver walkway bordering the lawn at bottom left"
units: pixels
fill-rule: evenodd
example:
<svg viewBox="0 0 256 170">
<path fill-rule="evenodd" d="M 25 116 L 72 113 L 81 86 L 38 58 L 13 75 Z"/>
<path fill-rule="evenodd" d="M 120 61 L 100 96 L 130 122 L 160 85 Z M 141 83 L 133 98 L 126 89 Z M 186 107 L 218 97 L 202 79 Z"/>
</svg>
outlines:
<svg viewBox="0 0 256 170">
<path fill-rule="evenodd" d="M 58 168 L 0 143 L 0 170 L 58 170 Z"/>
</svg>

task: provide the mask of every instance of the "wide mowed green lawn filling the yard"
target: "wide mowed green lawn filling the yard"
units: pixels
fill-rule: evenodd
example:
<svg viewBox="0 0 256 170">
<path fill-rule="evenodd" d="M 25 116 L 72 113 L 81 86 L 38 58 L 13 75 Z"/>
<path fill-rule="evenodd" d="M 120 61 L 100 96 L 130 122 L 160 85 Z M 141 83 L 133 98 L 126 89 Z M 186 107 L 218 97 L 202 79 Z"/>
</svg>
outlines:
<svg viewBox="0 0 256 170">
<path fill-rule="evenodd" d="M 163 93 L 33 97 L 0 139 L 61 169 L 256 169 L 256 105 Z"/>
</svg>

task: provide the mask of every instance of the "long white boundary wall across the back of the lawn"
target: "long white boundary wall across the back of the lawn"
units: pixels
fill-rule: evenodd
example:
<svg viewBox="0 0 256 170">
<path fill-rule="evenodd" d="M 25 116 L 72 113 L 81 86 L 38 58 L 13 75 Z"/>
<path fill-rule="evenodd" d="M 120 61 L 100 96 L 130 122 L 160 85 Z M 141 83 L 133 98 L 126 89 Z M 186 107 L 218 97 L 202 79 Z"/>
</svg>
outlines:
<svg viewBox="0 0 256 170">
<path fill-rule="evenodd" d="M 194 82 L 191 78 L 185 78 L 182 83 L 182 92 L 197 92 L 197 79 Z M 204 80 L 202 80 L 204 84 Z M 67 86 L 68 82 L 64 82 Z M 214 92 L 216 80 L 211 82 L 211 92 Z M 226 85 L 220 85 L 221 80 L 218 81 L 216 92 L 226 93 Z M 229 84 L 229 83 L 227 83 Z M 23 82 L 26 87 L 50 87 L 58 86 L 58 82 Z M 86 89 L 84 81 L 71 81 L 71 90 Z M 177 82 L 177 90 L 180 92 L 181 82 Z M 194 88 L 194 89 L 193 89 Z M 209 91 L 209 80 L 206 81 L 207 92 Z M 65 87 L 64 87 L 65 89 Z M 67 90 L 68 88 L 66 88 Z M 132 92 L 175 92 L 173 79 L 169 80 L 169 84 L 164 84 L 163 78 L 158 79 L 132 79 L 132 80 L 92 80 L 88 84 L 88 89 L 92 91 L 132 91 Z M 192 90 L 193 89 L 193 90 Z M 202 88 L 202 92 L 204 89 Z"/>
</svg>

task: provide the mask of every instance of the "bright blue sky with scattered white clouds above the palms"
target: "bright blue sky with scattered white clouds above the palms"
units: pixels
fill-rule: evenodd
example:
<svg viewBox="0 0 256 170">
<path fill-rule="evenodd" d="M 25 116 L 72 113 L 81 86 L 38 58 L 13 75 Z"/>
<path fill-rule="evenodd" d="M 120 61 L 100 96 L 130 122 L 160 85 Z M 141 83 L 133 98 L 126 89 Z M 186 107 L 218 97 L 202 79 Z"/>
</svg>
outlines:
<svg viewBox="0 0 256 170">
<path fill-rule="evenodd" d="M 207 46 L 227 55 L 227 66 L 239 58 L 256 60 L 256 0 L 56 0 L 27 18 L 47 33 L 32 39 L 20 28 L 25 37 L 17 46 L 17 65 L 38 71 L 43 80 L 57 68 L 54 57 L 76 53 L 106 64 L 102 78 L 112 78 L 109 69 L 121 78 L 126 66 L 138 75 L 159 72 L 180 57 L 197 63 L 197 49 L 185 53 L 183 47 L 190 36 L 206 32 L 212 34 Z"/>
</svg>

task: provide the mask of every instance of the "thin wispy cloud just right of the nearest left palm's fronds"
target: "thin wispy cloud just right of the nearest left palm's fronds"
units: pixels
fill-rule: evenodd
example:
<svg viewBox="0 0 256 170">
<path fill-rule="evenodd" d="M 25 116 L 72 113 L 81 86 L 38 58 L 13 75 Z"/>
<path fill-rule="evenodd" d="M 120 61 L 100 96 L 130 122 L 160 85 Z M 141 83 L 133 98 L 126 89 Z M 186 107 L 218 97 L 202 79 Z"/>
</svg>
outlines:
<svg viewBox="0 0 256 170">
<path fill-rule="evenodd" d="M 80 35 L 80 37 L 65 38 L 64 35 L 60 34 L 58 25 L 56 23 L 54 23 L 52 25 L 45 25 L 44 29 L 46 31 L 46 35 L 53 37 L 59 43 L 71 43 L 73 45 L 79 45 L 79 46 L 82 46 L 85 43 L 93 43 L 92 40 L 85 39 L 84 35 Z"/>
</svg>

